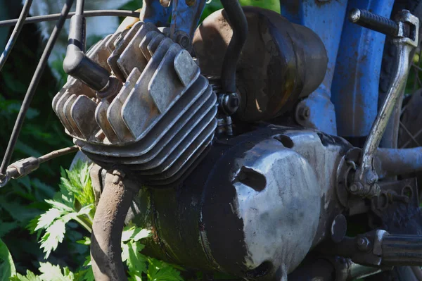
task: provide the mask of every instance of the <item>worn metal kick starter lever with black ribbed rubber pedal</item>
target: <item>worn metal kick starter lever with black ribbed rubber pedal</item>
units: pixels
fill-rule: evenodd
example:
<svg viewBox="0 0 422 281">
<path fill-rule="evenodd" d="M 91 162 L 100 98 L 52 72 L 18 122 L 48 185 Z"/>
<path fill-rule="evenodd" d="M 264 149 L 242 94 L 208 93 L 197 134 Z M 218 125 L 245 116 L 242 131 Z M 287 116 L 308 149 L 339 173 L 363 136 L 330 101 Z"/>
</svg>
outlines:
<svg viewBox="0 0 422 281">
<path fill-rule="evenodd" d="M 359 196 L 378 196 L 380 187 L 377 184 L 378 175 L 373 168 L 373 158 L 388 125 L 388 120 L 397 101 L 402 98 L 406 77 L 409 74 L 411 51 L 418 46 L 419 19 L 409 11 L 403 10 L 394 20 L 375 15 L 369 11 L 352 9 L 349 14 L 352 23 L 381 32 L 392 37 L 397 48 L 397 69 L 394 79 L 388 89 L 387 97 L 376 116 L 362 149 L 360 166 L 354 174 L 354 180 L 349 186 L 350 192 Z"/>
</svg>

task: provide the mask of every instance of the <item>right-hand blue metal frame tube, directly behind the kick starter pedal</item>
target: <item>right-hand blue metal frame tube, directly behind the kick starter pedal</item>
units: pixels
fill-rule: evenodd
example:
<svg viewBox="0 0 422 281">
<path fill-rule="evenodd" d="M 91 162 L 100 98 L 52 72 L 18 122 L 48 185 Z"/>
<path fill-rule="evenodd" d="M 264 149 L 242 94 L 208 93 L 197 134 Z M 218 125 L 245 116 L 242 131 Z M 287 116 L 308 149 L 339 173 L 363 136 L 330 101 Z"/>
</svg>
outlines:
<svg viewBox="0 0 422 281">
<path fill-rule="evenodd" d="M 347 11 L 359 8 L 390 18 L 394 0 L 349 0 Z M 378 111 L 378 87 L 385 35 L 345 20 L 331 100 L 335 106 L 338 135 L 369 134 Z"/>
</svg>

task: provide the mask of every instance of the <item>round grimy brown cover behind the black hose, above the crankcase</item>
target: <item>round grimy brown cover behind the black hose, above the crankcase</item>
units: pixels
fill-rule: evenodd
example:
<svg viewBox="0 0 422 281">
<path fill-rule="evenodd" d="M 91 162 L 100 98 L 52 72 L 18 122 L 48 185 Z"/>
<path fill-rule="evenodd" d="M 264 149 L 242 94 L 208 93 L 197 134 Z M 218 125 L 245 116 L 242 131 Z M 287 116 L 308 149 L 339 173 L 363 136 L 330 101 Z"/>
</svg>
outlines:
<svg viewBox="0 0 422 281">
<path fill-rule="evenodd" d="M 257 7 L 244 7 L 248 39 L 238 62 L 236 85 L 241 106 L 236 118 L 267 120 L 311 94 L 324 79 L 328 58 L 321 39 L 309 28 Z M 205 18 L 193 37 L 201 71 L 219 76 L 233 30 L 224 10 Z"/>
</svg>

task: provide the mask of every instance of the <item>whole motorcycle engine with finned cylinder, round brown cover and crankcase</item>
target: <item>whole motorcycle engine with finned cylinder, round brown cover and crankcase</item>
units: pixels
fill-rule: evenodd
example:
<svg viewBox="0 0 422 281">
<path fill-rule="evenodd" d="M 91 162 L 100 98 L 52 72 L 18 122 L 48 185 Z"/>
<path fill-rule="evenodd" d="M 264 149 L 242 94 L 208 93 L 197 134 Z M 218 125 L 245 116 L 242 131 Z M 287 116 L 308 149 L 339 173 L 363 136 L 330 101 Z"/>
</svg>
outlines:
<svg viewBox="0 0 422 281">
<path fill-rule="evenodd" d="M 87 55 L 113 85 L 95 92 L 70 77 L 53 109 L 92 161 L 146 186 L 127 220 L 153 231 L 147 254 L 280 280 L 330 235 L 342 208 L 333 203 L 336 170 L 350 144 L 271 125 L 319 86 L 326 51 L 307 27 L 261 8 L 244 12 L 233 137 L 216 132 L 224 113 L 215 77 L 233 35 L 224 11 L 198 27 L 192 54 L 151 23 L 108 35 Z"/>
</svg>

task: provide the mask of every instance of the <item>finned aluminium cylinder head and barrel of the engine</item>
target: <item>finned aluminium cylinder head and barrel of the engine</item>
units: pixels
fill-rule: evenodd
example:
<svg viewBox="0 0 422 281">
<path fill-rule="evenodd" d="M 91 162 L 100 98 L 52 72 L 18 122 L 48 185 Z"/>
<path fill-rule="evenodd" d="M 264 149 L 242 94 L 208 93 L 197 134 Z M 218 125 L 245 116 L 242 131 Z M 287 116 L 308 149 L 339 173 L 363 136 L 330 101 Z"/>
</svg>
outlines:
<svg viewBox="0 0 422 281">
<path fill-rule="evenodd" d="M 149 185 L 177 180 L 217 127 L 217 96 L 191 55 L 139 22 L 88 56 L 110 71 L 113 85 L 96 93 L 70 78 L 53 99 L 66 132 L 103 167 L 126 166 Z"/>
</svg>

